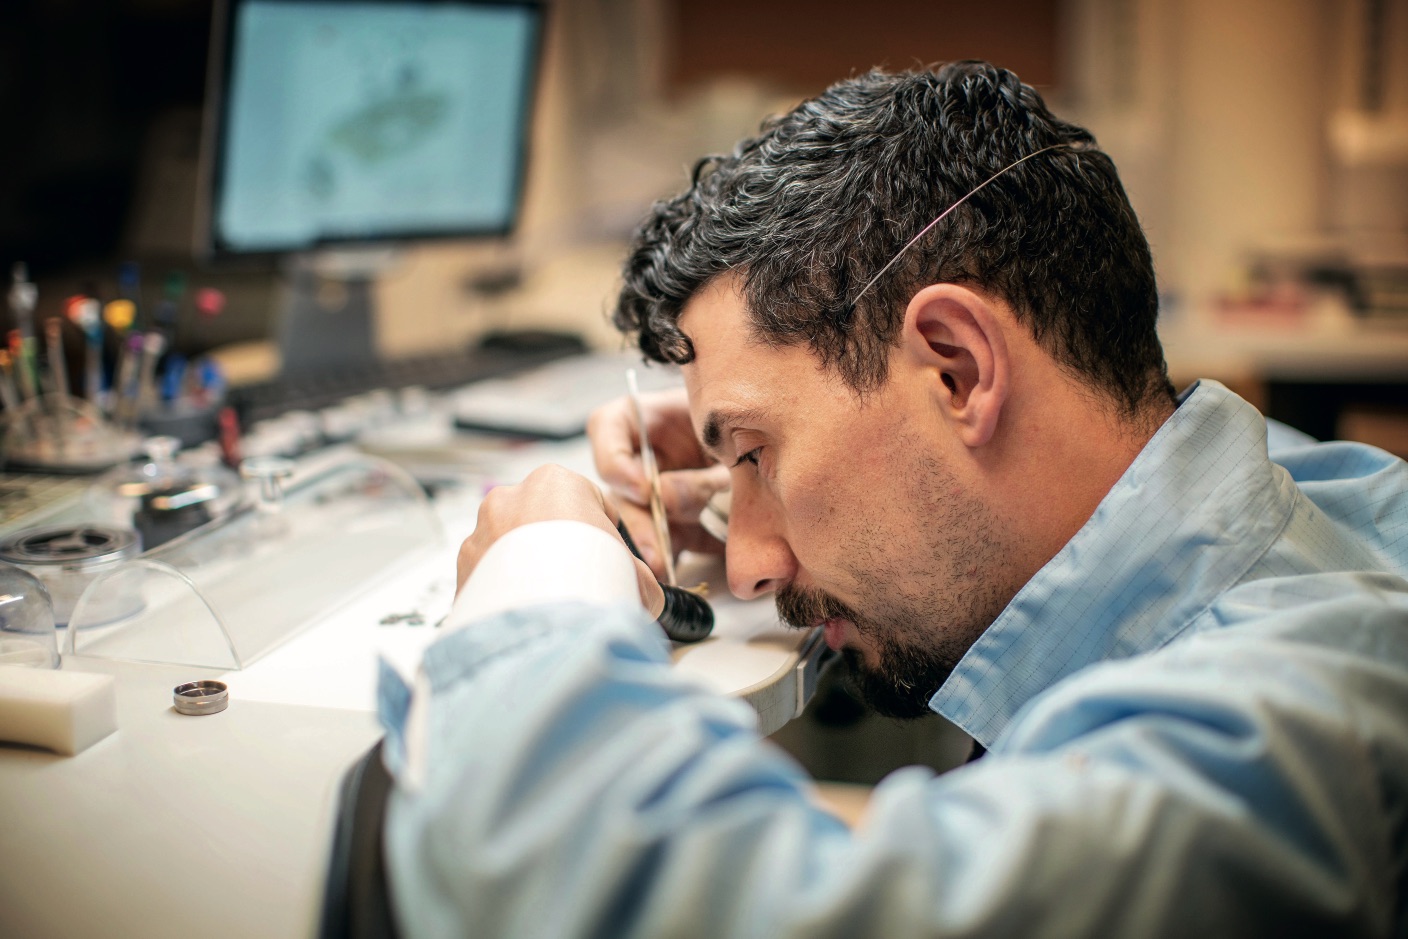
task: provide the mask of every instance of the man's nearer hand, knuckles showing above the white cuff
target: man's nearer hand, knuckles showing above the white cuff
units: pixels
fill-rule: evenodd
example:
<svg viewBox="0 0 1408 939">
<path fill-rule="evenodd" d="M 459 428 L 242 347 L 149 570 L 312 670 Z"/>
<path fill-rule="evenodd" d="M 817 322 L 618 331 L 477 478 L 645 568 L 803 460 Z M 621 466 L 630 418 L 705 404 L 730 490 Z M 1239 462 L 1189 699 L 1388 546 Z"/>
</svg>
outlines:
<svg viewBox="0 0 1408 939">
<path fill-rule="evenodd" d="M 529 522 L 552 519 L 586 522 L 621 541 L 615 528 L 620 515 L 600 489 L 586 477 L 560 466 L 539 466 L 522 483 L 497 486 L 484 496 L 484 501 L 479 505 L 474 531 L 459 546 L 455 591 L 458 593 L 465 586 L 489 546 L 503 538 L 505 532 Z M 621 542 L 621 546 L 624 549 L 625 542 Z M 634 560 L 641 603 L 652 617 L 658 617 L 665 608 L 665 591 L 660 590 L 650 569 L 641 560 Z M 551 577 L 552 572 L 542 572 L 542 574 Z"/>
</svg>

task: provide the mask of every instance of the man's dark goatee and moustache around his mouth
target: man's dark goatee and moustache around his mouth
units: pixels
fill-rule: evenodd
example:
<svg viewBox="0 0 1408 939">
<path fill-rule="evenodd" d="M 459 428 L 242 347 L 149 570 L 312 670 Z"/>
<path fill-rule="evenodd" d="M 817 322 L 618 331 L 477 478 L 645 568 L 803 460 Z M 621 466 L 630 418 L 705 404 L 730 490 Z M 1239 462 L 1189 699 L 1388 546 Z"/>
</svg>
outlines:
<svg viewBox="0 0 1408 939">
<path fill-rule="evenodd" d="M 929 698 L 957 666 L 967 643 L 952 648 L 936 636 L 941 624 L 908 611 L 887 614 L 869 619 L 822 590 L 787 584 L 777 591 L 777 615 L 790 626 L 807 629 L 832 618 L 850 621 L 880 660 L 872 669 L 857 649 L 842 649 L 852 690 L 877 714 L 919 718 L 929 714 Z"/>
</svg>

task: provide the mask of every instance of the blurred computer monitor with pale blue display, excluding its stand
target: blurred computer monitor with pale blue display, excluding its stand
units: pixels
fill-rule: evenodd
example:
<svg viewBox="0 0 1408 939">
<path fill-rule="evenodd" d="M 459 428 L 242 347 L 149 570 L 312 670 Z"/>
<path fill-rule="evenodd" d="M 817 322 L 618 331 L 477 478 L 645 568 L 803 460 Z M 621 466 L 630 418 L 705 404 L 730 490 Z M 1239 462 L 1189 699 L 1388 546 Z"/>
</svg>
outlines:
<svg viewBox="0 0 1408 939">
<path fill-rule="evenodd" d="M 230 0 L 207 251 L 508 232 L 541 13 L 513 1 Z"/>
</svg>

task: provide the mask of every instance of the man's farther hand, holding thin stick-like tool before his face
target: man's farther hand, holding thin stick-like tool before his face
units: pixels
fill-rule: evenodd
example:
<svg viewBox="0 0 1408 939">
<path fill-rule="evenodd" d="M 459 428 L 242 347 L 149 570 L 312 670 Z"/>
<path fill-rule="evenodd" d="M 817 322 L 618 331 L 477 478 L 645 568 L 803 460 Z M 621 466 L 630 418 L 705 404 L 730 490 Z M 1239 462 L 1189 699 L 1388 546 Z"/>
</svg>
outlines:
<svg viewBox="0 0 1408 939">
<path fill-rule="evenodd" d="M 642 394 L 641 410 L 660 467 L 660 498 L 670 519 L 674 550 L 719 553 L 722 545 L 700 525 L 700 512 L 714 493 L 728 489 L 728 469 L 714 463 L 700 448 L 684 389 Z M 663 577 L 665 557 L 655 543 L 650 484 L 641 463 L 641 429 L 631 398 L 620 397 L 597 408 L 587 421 L 587 436 L 597 473 L 617 497 L 631 538 L 650 570 Z"/>
</svg>

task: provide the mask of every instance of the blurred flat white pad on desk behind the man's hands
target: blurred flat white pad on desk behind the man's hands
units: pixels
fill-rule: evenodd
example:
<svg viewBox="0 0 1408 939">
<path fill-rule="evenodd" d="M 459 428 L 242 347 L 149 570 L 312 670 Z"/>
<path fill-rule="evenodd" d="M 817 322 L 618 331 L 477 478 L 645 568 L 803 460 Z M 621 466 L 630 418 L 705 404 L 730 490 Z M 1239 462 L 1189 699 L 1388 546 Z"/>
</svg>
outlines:
<svg viewBox="0 0 1408 939">
<path fill-rule="evenodd" d="M 455 427 L 553 441 L 577 436 L 594 410 L 625 394 L 627 369 L 636 370 L 642 391 L 683 382 L 677 367 L 642 365 L 639 352 L 570 356 L 458 391 Z"/>
</svg>

